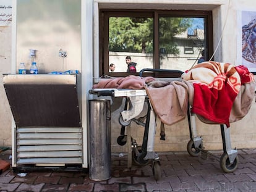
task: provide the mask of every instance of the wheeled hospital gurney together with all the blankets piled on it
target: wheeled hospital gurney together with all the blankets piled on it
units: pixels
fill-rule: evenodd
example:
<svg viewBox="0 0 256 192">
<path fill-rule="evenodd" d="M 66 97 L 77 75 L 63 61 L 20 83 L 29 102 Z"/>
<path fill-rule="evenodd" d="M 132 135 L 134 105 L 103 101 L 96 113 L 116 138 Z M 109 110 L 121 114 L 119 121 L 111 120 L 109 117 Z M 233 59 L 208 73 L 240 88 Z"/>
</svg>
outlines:
<svg viewBox="0 0 256 192">
<path fill-rule="evenodd" d="M 169 78 L 142 77 L 145 71 L 169 73 Z M 246 88 L 241 88 L 244 85 Z M 161 123 L 172 125 L 188 116 L 190 141 L 187 144 L 187 151 L 191 156 L 207 152 L 203 149 L 202 138 L 197 135 L 195 115 L 205 123 L 220 124 L 223 139 L 221 168 L 224 172 L 233 172 L 237 168 L 238 157 L 237 150 L 231 149 L 229 123 L 240 120 L 247 114 L 252 104 L 254 90 L 253 75 L 244 67 L 205 62 L 185 73 L 177 70 L 143 69 L 139 77 L 129 75 L 124 78 L 100 81 L 93 86 L 90 93 L 98 94 L 98 96 L 126 98 L 124 111 L 121 112 L 119 118 L 122 127 L 117 143 L 120 145 L 126 143 L 124 130 L 130 122 L 145 127 L 141 148 L 137 148 L 136 141 L 132 139 L 133 160 L 139 165 L 145 165 L 152 160 L 155 179 L 159 180 L 161 177 L 160 159 L 153 150 L 156 117 L 161 120 Z M 244 98 L 247 98 L 246 103 L 241 102 Z M 240 102 L 236 99 L 240 99 Z M 136 119 L 142 112 L 144 103 L 148 106 L 147 115 Z M 238 106 L 233 106 L 233 103 Z M 245 104 L 247 106 L 244 107 Z M 246 110 L 242 111 L 239 107 L 246 108 Z M 210 116 L 206 112 L 211 112 Z M 144 123 L 143 120 L 146 122 Z"/>
</svg>

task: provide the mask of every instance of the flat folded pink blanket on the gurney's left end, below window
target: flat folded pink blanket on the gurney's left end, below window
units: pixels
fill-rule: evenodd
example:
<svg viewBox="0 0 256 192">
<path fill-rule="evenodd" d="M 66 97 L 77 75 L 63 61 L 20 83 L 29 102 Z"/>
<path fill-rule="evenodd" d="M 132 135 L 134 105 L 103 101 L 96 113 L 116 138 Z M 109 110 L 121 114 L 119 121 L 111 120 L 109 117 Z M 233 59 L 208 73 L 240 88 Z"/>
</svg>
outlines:
<svg viewBox="0 0 256 192">
<path fill-rule="evenodd" d="M 129 75 L 127 77 L 117 77 L 102 79 L 98 84 L 93 85 L 93 88 L 116 88 L 116 89 L 133 89 L 142 90 L 146 83 L 155 80 L 153 77 L 139 77 Z"/>
</svg>

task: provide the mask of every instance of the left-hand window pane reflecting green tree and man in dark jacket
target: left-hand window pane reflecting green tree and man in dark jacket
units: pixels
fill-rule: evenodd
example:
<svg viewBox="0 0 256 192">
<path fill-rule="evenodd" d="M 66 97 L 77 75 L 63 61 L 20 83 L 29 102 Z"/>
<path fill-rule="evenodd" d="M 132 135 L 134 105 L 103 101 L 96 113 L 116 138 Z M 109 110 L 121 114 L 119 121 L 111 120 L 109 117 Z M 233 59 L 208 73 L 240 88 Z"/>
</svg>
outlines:
<svg viewBox="0 0 256 192">
<path fill-rule="evenodd" d="M 153 67 L 152 18 L 109 17 L 108 33 L 109 72 L 139 72 Z"/>
</svg>

